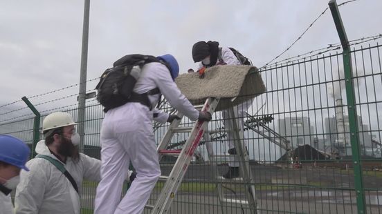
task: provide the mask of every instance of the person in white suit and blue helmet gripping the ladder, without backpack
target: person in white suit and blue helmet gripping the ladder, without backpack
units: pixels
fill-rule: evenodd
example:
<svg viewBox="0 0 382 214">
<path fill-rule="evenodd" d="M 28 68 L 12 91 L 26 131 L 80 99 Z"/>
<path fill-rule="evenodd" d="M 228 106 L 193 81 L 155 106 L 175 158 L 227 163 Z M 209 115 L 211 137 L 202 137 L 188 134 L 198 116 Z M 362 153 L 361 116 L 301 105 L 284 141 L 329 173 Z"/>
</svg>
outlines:
<svg viewBox="0 0 382 214">
<path fill-rule="evenodd" d="M 157 58 L 162 63 L 152 62 L 143 66 L 134 92 L 143 95 L 158 88 L 160 94 L 148 95 L 150 106 L 156 106 L 162 94 L 174 108 L 190 119 L 209 121 L 210 113 L 195 109 L 174 83 L 179 74 L 176 59 L 172 55 Z M 149 106 L 132 101 L 107 111 L 100 134 L 102 180 L 97 188 L 95 214 L 143 212 L 161 175 L 152 120 L 165 123 L 175 118 L 176 115 L 161 113 L 156 108 L 150 110 Z M 121 177 L 126 175 L 130 162 L 136 168 L 136 179 L 120 200 Z"/>
</svg>

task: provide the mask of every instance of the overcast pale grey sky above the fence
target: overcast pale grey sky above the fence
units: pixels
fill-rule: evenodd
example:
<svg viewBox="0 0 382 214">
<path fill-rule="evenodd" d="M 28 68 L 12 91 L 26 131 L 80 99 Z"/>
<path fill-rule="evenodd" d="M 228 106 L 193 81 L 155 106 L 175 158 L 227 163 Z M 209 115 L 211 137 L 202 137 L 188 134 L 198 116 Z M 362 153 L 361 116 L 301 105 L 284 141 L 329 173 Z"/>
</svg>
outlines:
<svg viewBox="0 0 382 214">
<path fill-rule="evenodd" d="M 181 72 L 185 72 L 197 67 L 191 48 L 200 40 L 235 47 L 260 67 L 295 41 L 327 8 L 327 3 L 91 1 L 87 79 L 99 77 L 113 61 L 131 53 L 171 53 L 178 59 Z M 358 0 L 341 6 L 349 39 L 381 33 L 381 8 L 379 0 Z M 79 82 L 83 12 L 84 2 L 78 0 L 0 1 L 0 106 Z M 281 59 L 326 47 L 328 43 L 338 43 L 329 10 Z M 90 82 L 87 90 L 95 84 L 96 81 Z M 75 93 L 78 87 L 31 101 L 39 104 Z M 75 96 L 37 109 L 73 103 Z M 25 104 L 0 108 L 0 113 L 20 106 Z M 26 109 L 26 113 L 30 111 Z"/>
</svg>

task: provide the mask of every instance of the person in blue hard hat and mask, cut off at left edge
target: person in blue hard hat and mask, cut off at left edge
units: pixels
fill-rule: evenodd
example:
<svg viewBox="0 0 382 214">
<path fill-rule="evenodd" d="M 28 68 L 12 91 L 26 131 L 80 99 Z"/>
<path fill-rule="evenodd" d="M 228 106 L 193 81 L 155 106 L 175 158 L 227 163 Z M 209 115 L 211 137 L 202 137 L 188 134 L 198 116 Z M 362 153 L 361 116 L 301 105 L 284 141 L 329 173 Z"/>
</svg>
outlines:
<svg viewBox="0 0 382 214">
<path fill-rule="evenodd" d="M 25 166 L 30 149 L 24 142 L 10 135 L 0 135 L 0 214 L 14 213 L 10 192 L 19 184 L 21 169 Z"/>
</svg>

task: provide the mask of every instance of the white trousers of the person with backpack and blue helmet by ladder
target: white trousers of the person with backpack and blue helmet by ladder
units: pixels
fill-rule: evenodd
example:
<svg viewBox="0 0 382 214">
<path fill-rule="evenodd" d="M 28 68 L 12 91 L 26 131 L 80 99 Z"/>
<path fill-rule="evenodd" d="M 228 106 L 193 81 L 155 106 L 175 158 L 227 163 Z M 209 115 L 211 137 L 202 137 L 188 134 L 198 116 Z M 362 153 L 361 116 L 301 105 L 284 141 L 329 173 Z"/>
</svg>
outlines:
<svg viewBox="0 0 382 214">
<path fill-rule="evenodd" d="M 152 112 L 138 103 L 109 110 L 100 133 L 101 181 L 97 187 L 95 214 L 143 213 L 161 175 L 152 130 Z M 129 163 L 136 179 L 120 200 Z"/>
</svg>

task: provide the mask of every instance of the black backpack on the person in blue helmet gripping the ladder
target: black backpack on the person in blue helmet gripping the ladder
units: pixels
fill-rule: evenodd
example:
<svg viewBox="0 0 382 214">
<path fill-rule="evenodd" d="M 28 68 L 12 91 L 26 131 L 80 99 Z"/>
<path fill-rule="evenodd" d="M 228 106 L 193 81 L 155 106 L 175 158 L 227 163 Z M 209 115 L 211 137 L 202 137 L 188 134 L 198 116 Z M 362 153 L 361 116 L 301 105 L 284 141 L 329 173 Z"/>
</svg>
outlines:
<svg viewBox="0 0 382 214">
<path fill-rule="evenodd" d="M 114 62 L 113 68 L 108 68 L 103 72 L 96 89 L 98 90 L 97 100 L 104 106 L 104 112 L 122 106 L 129 101 L 140 102 L 149 107 L 150 110 L 152 109 L 147 96 L 160 93 L 158 88 L 144 94 L 133 92 L 141 68 L 150 62 L 162 63 L 154 56 L 126 55 Z"/>
</svg>

